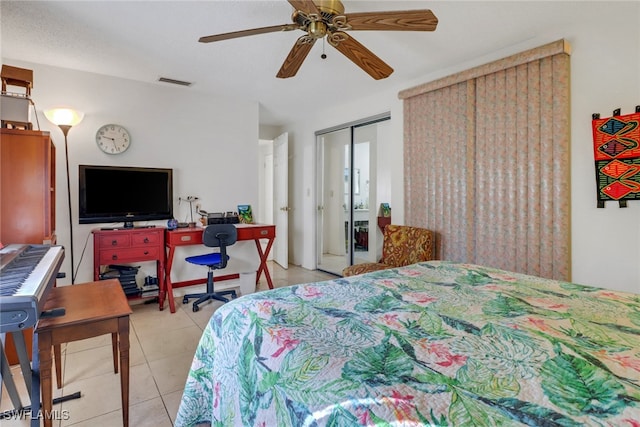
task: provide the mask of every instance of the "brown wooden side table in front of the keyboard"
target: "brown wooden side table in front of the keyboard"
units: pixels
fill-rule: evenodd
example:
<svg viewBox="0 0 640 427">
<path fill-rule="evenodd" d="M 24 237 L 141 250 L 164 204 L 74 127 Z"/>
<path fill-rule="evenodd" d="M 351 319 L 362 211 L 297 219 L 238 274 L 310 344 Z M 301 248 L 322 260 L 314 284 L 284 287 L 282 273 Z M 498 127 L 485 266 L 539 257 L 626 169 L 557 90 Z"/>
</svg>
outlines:
<svg viewBox="0 0 640 427">
<path fill-rule="evenodd" d="M 51 427 L 53 393 L 51 349 L 60 344 L 117 334 L 120 353 L 122 424 L 129 425 L 129 315 L 131 307 L 116 279 L 53 288 L 45 310 L 64 308 L 64 316 L 40 319 L 36 328 L 44 426 Z"/>
</svg>

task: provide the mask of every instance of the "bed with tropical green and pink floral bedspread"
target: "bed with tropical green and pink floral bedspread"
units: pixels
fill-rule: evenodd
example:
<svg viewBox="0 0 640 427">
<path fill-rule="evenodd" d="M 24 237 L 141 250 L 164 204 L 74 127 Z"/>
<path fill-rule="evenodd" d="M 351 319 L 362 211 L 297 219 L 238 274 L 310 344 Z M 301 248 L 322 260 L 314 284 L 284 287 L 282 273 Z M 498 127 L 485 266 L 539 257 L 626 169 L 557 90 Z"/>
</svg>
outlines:
<svg viewBox="0 0 640 427">
<path fill-rule="evenodd" d="M 176 426 L 640 426 L 640 295 L 431 261 L 247 295 Z"/>
</svg>

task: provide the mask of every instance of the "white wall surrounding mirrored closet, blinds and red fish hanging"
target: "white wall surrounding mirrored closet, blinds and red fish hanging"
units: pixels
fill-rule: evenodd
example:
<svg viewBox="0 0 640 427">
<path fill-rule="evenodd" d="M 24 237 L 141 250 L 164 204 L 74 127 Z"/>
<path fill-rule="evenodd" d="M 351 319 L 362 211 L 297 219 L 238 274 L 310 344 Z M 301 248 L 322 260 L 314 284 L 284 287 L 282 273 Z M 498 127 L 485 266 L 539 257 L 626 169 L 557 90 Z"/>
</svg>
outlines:
<svg viewBox="0 0 640 427">
<path fill-rule="evenodd" d="M 540 7 L 545 7 L 541 2 Z M 294 217 L 290 231 L 292 262 L 314 266 L 315 192 L 313 168 L 316 130 L 391 112 L 391 144 L 379 146 L 387 168 L 378 174 L 391 177 L 391 207 L 394 223 L 404 218 L 402 104 L 397 92 L 415 85 L 484 64 L 561 38 L 572 46 L 571 55 L 571 204 L 572 280 L 610 289 L 640 292 L 640 201 L 620 209 L 608 202 L 596 208 L 596 185 L 591 135 L 591 114 L 603 117 L 620 107 L 632 113 L 640 104 L 640 3 L 575 2 L 575 20 L 562 28 L 541 27 L 532 39 L 475 58 L 459 66 L 440 70 L 410 82 L 397 90 L 377 93 L 367 99 L 314 112 L 308 120 L 290 123 L 291 152 L 296 157 L 290 199 Z M 364 77 L 363 77 L 364 78 Z M 310 194 L 307 195 L 307 191 Z"/>
</svg>

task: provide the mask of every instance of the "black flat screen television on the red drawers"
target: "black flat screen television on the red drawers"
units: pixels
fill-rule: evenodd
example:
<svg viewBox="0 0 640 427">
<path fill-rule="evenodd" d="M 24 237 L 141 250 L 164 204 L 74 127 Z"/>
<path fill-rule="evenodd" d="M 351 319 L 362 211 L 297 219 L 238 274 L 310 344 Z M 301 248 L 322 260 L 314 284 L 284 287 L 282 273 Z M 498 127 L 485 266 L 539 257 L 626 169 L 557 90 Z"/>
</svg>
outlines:
<svg viewBox="0 0 640 427">
<path fill-rule="evenodd" d="M 80 224 L 173 218 L 173 170 L 79 166 Z"/>
</svg>

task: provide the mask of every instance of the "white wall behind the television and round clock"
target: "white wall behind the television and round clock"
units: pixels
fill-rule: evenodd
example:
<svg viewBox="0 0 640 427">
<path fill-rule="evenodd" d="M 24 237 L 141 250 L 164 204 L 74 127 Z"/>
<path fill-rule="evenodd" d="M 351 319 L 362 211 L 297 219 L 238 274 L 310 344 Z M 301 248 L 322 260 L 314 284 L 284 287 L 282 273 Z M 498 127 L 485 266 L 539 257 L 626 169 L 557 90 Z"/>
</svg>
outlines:
<svg viewBox="0 0 640 427">
<path fill-rule="evenodd" d="M 34 71 L 32 98 L 40 129 L 50 131 L 56 145 L 56 230 L 58 243 L 67 251 L 69 216 L 64 138 L 42 111 L 67 105 L 85 113 L 84 120 L 68 135 L 76 265 L 84 252 L 76 283 L 93 280 L 91 230 L 112 226 L 78 224 L 79 164 L 173 168 L 174 215 L 179 221 L 189 218 L 189 209 L 188 204 L 178 204 L 178 197 L 188 195 L 199 197 L 202 208 L 212 212 L 236 211 L 238 204 L 245 203 L 257 206 L 257 103 L 216 99 L 189 88 L 140 83 L 10 58 L 3 58 L 2 62 Z M 35 120 L 33 122 L 37 128 Z M 107 123 L 121 124 L 131 133 L 131 147 L 125 153 L 112 156 L 98 149 L 95 133 Z M 117 197 L 117 194 L 105 197 Z M 232 258 L 236 251 L 236 258 L 248 258 L 257 265 L 253 242 L 238 242 L 231 249 Z M 180 262 L 180 258 L 202 251 L 202 247 L 192 247 L 176 253 L 174 281 L 206 276 L 202 268 Z M 67 273 L 67 278 L 59 281 L 60 284 L 70 283 L 70 258 L 69 255 L 65 258 L 61 270 Z"/>
</svg>

